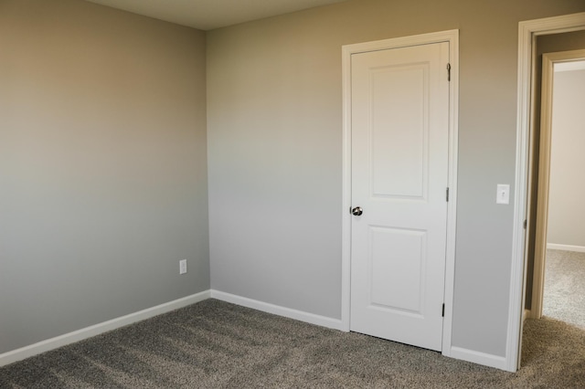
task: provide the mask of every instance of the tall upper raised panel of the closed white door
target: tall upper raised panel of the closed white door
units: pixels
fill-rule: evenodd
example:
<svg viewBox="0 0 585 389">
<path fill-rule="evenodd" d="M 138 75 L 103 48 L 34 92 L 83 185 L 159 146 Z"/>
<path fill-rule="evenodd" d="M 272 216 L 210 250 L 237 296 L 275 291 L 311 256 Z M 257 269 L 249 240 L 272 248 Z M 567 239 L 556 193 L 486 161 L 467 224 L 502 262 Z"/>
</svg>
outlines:
<svg viewBox="0 0 585 389">
<path fill-rule="evenodd" d="M 409 64 L 377 68 L 370 73 L 372 122 L 368 135 L 374 195 L 423 197 L 428 173 L 427 68 L 428 64 Z M 405 128 L 409 131 L 403 131 Z"/>
</svg>

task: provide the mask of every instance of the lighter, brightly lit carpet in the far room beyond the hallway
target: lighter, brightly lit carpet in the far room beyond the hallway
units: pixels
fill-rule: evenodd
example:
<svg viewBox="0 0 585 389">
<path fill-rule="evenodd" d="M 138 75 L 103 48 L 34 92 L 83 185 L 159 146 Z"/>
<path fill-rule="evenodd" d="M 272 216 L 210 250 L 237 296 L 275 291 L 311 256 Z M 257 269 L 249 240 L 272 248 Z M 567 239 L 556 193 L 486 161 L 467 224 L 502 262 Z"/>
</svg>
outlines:
<svg viewBox="0 0 585 389">
<path fill-rule="evenodd" d="M 547 250 L 542 313 L 585 329 L 585 253 Z"/>
</svg>

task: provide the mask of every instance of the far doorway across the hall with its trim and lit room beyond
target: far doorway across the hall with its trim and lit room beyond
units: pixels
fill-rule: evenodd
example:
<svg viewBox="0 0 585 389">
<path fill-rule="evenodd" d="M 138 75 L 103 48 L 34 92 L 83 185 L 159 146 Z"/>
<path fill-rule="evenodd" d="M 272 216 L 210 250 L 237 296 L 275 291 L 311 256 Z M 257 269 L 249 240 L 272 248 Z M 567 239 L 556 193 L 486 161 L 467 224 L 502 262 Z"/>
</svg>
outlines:
<svg viewBox="0 0 585 389">
<path fill-rule="evenodd" d="M 534 277 L 529 317 L 585 329 L 585 49 L 542 56 Z M 527 301 L 528 302 L 528 301 Z"/>
</svg>

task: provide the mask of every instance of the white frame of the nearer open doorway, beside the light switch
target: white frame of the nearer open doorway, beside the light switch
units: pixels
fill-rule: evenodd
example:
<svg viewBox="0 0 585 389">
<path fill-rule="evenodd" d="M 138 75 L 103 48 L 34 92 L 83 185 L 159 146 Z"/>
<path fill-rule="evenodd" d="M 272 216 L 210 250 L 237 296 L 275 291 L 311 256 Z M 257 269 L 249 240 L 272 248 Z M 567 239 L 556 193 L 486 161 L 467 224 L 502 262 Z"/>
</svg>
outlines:
<svg viewBox="0 0 585 389">
<path fill-rule="evenodd" d="M 518 100 L 516 118 L 516 180 L 512 268 L 508 310 L 505 369 L 516 372 L 520 364 L 524 302 L 526 299 L 525 229 L 528 198 L 528 152 L 532 75 L 537 36 L 585 29 L 585 12 L 520 22 L 518 26 Z"/>
</svg>

